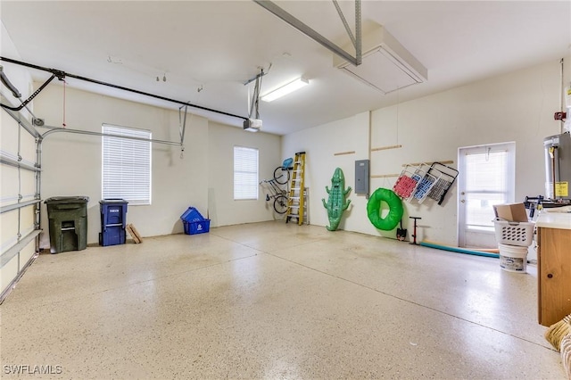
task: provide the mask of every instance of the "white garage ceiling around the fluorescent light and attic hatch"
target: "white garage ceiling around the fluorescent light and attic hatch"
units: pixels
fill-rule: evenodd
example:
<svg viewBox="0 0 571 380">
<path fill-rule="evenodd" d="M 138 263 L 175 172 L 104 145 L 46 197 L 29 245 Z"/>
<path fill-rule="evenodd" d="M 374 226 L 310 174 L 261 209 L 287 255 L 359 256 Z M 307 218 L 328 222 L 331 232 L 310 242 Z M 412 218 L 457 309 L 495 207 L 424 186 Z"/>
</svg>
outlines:
<svg viewBox="0 0 571 380">
<path fill-rule="evenodd" d="M 335 44 L 349 41 L 332 2 L 275 3 Z M 354 31 L 354 2 L 339 4 Z M 425 83 L 387 95 L 335 69 L 330 50 L 252 1 L 2 0 L 0 14 L 20 54 L 7 58 L 242 117 L 253 90 L 244 83 L 261 69 L 262 95 L 302 75 L 310 86 L 260 102 L 262 130 L 278 135 L 571 55 L 571 1 L 363 1 L 363 30 L 383 25 L 428 70 Z M 67 84 L 180 106 L 74 78 Z M 189 112 L 242 128 L 236 117 Z"/>
</svg>

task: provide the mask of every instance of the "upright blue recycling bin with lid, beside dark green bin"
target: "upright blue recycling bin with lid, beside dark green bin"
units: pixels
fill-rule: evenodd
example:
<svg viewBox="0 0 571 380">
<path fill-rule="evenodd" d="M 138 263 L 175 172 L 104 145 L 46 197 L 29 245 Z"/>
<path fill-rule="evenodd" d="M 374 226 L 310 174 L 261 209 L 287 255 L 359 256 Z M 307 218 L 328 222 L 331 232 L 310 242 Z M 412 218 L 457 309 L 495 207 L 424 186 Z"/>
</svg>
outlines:
<svg viewBox="0 0 571 380">
<path fill-rule="evenodd" d="M 101 233 L 99 245 L 125 244 L 127 233 L 127 205 L 123 199 L 103 199 L 99 201 L 101 211 Z"/>
</svg>

